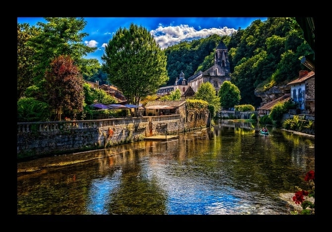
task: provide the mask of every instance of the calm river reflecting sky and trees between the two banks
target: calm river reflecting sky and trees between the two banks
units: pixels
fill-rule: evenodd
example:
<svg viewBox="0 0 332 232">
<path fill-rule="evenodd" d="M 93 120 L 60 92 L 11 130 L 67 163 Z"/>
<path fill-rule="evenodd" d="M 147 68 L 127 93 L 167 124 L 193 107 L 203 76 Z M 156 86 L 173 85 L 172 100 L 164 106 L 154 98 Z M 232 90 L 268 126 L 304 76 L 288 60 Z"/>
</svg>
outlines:
<svg viewBox="0 0 332 232">
<path fill-rule="evenodd" d="M 18 163 L 43 168 L 18 172 L 17 214 L 289 215 L 280 194 L 308 188 L 315 139 L 259 128 L 221 120 L 179 139 Z"/>
</svg>

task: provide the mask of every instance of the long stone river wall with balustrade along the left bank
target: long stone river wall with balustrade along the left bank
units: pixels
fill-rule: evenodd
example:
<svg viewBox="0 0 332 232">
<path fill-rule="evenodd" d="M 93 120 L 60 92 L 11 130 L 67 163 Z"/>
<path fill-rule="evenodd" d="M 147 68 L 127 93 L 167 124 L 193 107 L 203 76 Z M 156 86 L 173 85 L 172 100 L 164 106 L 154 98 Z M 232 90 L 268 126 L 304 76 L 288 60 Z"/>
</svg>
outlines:
<svg viewBox="0 0 332 232">
<path fill-rule="evenodd" d="M 204 116 L 201 120 L 194 118 L 194 124 L 191 120 L 186 123 L 186 118 L 181 115 L 17 123 L 17 155 L 38 157 L 92 150 L 143 140 L 154 135 L 178 134 L 186 131 L 188 124 L 206 127 L 209 114 L 205 112 Z"/>
</svg>

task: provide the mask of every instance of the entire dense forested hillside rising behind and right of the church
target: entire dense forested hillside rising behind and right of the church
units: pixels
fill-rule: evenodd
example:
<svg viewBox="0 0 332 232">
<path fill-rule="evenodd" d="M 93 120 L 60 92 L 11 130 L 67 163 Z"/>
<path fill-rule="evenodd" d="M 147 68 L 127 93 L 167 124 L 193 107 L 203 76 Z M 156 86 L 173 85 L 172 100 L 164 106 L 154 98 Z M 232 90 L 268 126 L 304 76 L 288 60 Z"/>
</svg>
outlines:
<svg viewBox="0 0 332 232">
<path fill-rule="evenodd" d="M 228 48 L 231 82 L 241 92 L 240 104 L 257 106 L 261 98 L 255 96 L 255 89 L 265 91 L 286 84 L 297 78 L 300 70 L 306 69 L 300 58 L 313 51 L 294 23 L 285 17 L 268 18 L 264 22 L 256 20 L 231 36 L 213 35 L 169 46 L 165 49 L 167 85 L 173 85 L 181 71 L 188 79 L 211 67 L 215 49 L 222 40 Z"/>
</svg>

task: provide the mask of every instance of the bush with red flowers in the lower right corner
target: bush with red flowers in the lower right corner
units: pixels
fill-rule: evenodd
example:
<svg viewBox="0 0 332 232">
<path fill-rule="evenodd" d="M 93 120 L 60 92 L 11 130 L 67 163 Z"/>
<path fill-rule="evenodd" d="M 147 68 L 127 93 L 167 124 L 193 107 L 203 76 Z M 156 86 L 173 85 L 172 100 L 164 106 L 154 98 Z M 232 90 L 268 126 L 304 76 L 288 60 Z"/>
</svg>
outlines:
<svg viewBox="0 0 332 232">
<path fill-rule="evenodd" d="M 309 197 L 315 198 L 315 171 L 309 171 L 304 180 L 309 182 L 309 186 L 311 187 L 308 191 L 302 190 L 299 187 L 298 191 L 295 192 L 293 196 L 293 201 L 295 204 L 301 204 L 302 211 L 300 214 L 315 214 L 315 202 L 308 200 Z"/>
</svg>

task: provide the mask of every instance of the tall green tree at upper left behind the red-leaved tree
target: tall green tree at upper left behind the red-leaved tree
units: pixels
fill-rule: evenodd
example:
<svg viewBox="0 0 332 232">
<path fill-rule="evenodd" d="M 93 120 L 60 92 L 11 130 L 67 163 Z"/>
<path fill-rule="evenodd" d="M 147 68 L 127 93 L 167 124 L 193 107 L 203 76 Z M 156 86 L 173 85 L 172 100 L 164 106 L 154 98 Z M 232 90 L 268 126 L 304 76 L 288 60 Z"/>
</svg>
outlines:
<svg viewBox="0 0 332 232">
<path fill-rule="evenodd" d="M 45 17 L 44 19 L 46 23 L 37 23 L 40 32 L 28 41 L 28 45 L 35 49 L 32 57 L 37 64 L 34 68 L 35 85 L 41 84 L 51 61 L 60 55 L 70 55 L 82 74 L 92 75 L 100 64 L 97 59 L 84 58 L 97 49 L 83 43 L 83 38 L 89 35 L 80 32 L 86 26 L 86 21 L 75 17 Z"/>
</svg>

